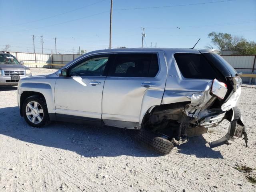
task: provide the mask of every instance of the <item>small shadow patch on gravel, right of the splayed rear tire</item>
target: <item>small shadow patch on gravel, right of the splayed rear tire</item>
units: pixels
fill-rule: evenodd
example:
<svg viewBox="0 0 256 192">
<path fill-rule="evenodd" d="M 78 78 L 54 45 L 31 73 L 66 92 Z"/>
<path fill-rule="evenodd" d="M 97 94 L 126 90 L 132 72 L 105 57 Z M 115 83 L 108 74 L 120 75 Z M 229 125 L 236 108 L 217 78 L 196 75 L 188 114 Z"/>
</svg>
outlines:
<svg viewBox="0 0 256 192">
<path fill-rule="evenodd" d="M 202 135 L 189 138 L 185 144 L 178 146 L 178 152 L 187 155 L 195 155 L 198 158 L 223 158 L 220 151 L 213 150 L 206 145 L 208 142 Z"/>
</svg>

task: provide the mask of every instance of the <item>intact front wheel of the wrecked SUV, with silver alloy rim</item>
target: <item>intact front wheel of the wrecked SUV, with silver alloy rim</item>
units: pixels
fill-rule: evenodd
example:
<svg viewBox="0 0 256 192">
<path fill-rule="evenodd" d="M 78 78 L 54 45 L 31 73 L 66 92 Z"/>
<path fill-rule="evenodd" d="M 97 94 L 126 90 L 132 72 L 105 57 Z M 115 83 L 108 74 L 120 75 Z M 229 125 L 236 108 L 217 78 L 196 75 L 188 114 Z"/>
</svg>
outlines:
<svg viewBox="0 0 256 192">
<path fill-rule="evenodd" d="M 28 97 L 23 103 L 22 114 L 25 121 L 33 127 L 42 127 L 49 120 L 46 102 L 40 96 Z"/>
</svg>

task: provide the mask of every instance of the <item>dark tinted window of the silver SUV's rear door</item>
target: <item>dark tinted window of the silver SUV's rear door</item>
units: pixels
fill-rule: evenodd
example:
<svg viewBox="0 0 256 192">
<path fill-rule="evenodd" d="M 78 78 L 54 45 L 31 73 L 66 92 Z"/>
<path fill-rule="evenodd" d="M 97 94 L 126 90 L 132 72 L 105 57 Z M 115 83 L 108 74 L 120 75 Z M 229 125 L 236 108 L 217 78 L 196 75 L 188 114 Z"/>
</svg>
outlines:
<svg viewBox="0 0 256 192">
<path fill-rule="evenodd" d="M 158 56 L 152 53 L 116 54 L 111 76 L 155 77 L 158 73 Z"/>
</svg>

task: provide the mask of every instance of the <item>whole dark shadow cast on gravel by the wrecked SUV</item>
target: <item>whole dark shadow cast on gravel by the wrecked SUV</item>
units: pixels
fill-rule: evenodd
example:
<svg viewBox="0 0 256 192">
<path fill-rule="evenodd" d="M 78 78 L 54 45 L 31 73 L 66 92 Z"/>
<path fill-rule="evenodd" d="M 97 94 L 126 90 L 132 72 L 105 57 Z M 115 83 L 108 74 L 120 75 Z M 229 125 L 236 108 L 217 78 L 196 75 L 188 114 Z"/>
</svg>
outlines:
<svg viewBox="0 0 256 192">
<path fill-rule="evenodd" d="M 0 122 L 0 134 L 37 145 L 70 150 L 85 157 L 162 156 L 136 142 L 136 130 L 66 122 L 52 122 L 43 128 L 33 128 L 20 116 L 18 107 L 0 108 Z M 207 148 L 205 143 L 200 137 L 192 138 L 178 149 L 183 154 L 196 154 L 199 158 L 222 158 L 220 152 Z"/>
</svg>

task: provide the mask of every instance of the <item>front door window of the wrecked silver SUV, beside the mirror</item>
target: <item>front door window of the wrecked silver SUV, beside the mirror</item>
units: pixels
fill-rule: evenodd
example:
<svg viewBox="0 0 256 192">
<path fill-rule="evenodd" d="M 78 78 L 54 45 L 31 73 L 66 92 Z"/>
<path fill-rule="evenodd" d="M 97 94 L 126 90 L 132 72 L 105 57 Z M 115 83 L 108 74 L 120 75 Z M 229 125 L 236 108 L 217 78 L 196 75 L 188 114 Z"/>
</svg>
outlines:
<svg viewBox="0 0 256 192">
<path fill-rule="evenodd" d="M 69 76 L 103 76 L 108 55 L 86 58 L 70 67 Z"/>
</svg>

